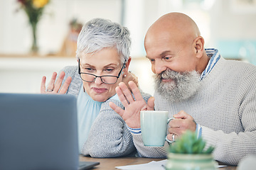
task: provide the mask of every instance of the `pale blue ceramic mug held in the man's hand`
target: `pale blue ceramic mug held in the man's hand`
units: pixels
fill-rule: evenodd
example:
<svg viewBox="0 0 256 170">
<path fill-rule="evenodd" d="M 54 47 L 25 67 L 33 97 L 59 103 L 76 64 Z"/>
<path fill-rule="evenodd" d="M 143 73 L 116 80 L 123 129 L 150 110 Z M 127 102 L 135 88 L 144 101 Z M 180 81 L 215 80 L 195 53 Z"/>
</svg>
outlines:
<svg viewBox="0 0 256 170">
<path fill-rule="evenodd" d="M 168 111 L 141 111 L 142 140 L 147 147 L 163 147 L 167 139 L 167 125 L 174 118 L 168 118 Z"/>
</svg>

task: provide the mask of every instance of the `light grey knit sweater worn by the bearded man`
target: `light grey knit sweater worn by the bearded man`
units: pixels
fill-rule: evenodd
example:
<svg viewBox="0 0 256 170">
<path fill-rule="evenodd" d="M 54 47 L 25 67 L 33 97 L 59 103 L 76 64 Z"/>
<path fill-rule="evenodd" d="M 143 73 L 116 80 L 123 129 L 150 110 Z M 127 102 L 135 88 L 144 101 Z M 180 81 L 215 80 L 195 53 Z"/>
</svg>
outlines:
<svg viewBox="0 0 256 170">
<path fill-rule="evenodd" d="M 214 157 L 226 164 L 238 164 L 246 155 L 256 155 L 256 67 L 220 57 L 201 89 L 182 102 L 170 102 L 155 94 L 155 109 L 169 116 L 186 111 L 202 127 Z M 144 147 L 142 135 L 133 135 L 142 157 L 166 157 L 164 147 Z"/>
</svg>

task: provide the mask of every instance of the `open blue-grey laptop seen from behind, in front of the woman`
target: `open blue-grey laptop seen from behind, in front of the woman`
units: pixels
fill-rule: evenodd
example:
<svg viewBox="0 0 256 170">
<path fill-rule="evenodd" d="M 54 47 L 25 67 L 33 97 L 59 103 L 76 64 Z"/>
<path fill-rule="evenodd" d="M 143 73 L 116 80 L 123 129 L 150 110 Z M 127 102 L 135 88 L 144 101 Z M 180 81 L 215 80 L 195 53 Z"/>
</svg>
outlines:
<svg viewBox="0 0 256 170">
<path fill-rule="evenodd" d="M 75 96 L 0 94 L 0 169 L 78 170 Z"/>
</svg>

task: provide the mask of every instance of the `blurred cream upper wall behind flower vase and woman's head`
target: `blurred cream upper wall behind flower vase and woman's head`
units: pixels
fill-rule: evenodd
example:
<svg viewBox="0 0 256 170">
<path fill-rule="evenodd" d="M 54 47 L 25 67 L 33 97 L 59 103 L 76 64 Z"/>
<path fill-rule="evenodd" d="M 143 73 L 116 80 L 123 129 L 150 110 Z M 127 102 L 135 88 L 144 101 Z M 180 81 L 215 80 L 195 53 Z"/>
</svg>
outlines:
<svg viewBox="0 0 256 170">
<path fill-rule="evenodd" d="M 0 53 L 26 54 L 31 47 L 31 28 L 26 14 L 18 10 L 17 0 L 0 0 Z M 38 23 L 38 44 L 41 54 L 60 50 L 68 23 L 73 18 L 85 23 L 92 18 L 121 20 L 120 0 L 51 0 Z M 18 10 L 18 11 L 17 11 Z"/>
</svg>

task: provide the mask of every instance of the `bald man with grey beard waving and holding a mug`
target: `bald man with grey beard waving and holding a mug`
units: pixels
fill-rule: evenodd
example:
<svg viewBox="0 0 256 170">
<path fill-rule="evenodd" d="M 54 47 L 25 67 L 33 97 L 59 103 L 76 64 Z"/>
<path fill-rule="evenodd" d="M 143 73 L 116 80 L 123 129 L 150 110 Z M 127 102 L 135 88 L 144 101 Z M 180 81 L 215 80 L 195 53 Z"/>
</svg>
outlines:
<svg viewBox="0 0 256 170">
<path fill-rule="evenodd" d="M 146 103 L 137 86 L 119 84 L 116 91 L 125 110 L 110 103 L 132 132 L 142 157 L 166 157 L 164 147 L 145 147 L 140 132 L 139 111 L 169 111 L 169 140 L 186 130 L 197 132 L 214 157 L 238 164 L 256 154 L 256 67 L 225 60 L 216 49 L 204 49 L 196 23 L 183 13 L 161 16 L 147 31 L 146 57 L 155 74 L 156 91 Z"/>
</svg>

